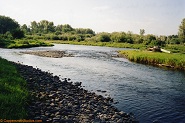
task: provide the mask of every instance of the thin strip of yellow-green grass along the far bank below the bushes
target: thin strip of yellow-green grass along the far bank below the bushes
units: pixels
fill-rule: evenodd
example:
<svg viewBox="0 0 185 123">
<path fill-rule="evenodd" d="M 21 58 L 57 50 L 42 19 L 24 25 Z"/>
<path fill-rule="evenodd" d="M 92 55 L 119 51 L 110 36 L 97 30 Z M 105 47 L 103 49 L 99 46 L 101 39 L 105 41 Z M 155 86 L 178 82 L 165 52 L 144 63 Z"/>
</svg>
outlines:
<svg viewBox="0 0 185 123">
<path fill-rule="evenodd" d="M 134 49 L 145 49 L 146 46 L 143 44 L 129 44 L 129 43 L 115 43 L 115 42 L 93 42 L 93 41 L 46 41 L 49 43 L 57 44 L 74 44 L 74 45 L 88 45 L 88 46 L 105 46 L 105 47 L 116 47 L 116 48 L 134 48 Z"/>
</svg>

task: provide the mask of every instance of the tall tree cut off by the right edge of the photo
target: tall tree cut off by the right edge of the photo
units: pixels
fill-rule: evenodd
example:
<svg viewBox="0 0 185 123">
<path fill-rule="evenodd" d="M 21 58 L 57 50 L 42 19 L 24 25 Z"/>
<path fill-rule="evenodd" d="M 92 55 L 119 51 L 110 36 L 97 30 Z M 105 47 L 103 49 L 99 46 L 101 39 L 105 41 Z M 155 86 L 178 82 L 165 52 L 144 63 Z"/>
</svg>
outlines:
<svg viewBox="0 0 185 123">
<path fill-rule="evenodd" d="M 182 20 L 179 26 L 178 36 L 182 40 L 182 42 L 185 43 L 185 18 Z"/>
</svg>

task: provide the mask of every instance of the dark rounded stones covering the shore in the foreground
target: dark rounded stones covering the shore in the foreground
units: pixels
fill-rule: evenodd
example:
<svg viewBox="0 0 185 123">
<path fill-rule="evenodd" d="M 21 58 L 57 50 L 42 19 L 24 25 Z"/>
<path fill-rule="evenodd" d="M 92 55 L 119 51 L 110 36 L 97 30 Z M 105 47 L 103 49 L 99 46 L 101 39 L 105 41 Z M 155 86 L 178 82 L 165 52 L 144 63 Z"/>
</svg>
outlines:
<svg viewBox="0 0 185 123">
<path fill-rule="evenodd" d="M 15 64 L 28 82 L 28 118 L 61 123 L 137 123 L 133 116 L 119 111 L 105 98 L 81 88 L 81 83 Z"/>
</svg>

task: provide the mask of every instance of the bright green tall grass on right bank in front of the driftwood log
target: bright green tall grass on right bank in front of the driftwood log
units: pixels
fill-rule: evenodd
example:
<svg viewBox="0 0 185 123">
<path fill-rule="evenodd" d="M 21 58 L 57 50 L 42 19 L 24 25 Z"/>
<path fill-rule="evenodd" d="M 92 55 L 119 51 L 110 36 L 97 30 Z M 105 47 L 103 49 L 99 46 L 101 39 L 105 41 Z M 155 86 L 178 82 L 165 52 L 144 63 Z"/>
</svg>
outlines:
<svg viewBox="0 0 185 123">
<path fill-rule="evenodd" d="M 120 51 L 130 61 L 185 70 L 185 54 L 167 54 L 148 51 Z"/>
</svg>

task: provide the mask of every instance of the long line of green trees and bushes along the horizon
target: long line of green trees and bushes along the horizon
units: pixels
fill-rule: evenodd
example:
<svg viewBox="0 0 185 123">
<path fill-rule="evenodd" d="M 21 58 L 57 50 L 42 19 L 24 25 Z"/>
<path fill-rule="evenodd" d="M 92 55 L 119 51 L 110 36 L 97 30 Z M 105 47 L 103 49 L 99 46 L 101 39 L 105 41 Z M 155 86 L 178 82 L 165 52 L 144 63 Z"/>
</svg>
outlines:
<svg viewBox="0 0 185 123">
<path fill-rule="evenodd" d="M 19 25 L 10 17 L 0 16 L 0 36 L 1 38 L 17 39 L 44 39 L 62 41 L 93 41 L 93 42 L 116 42 L 144 45 L 165 46 L 166 44 L 185 44 L 185 18 L 182 20 L 177 35 L 146 34 L 140 29 L 139 34 L 128 32 L 101 32 L 95 33 L 89 28 L 73 28 L 69 24 L 54 25 L 48 20 L 40 22 L 33 21 L 30 25 Z"/>
</svg>

